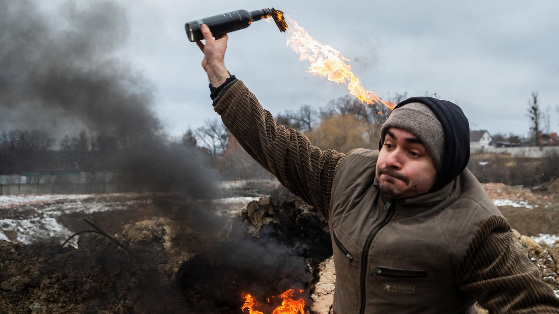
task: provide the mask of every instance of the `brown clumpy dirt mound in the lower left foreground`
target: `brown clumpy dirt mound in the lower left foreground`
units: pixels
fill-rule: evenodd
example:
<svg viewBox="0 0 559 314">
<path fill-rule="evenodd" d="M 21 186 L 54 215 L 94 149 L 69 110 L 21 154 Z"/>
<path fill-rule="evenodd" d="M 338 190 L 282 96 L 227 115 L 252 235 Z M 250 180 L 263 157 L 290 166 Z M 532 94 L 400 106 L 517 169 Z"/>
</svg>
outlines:
<svg viewBox="0 0 559 314">
<path fill-rule="evenodd" d="M 141 262 L 97 234 L 81 236 L 78 249 L 0 241 L 0 313 L 186 312 L 172 277 L 188 251 L 173 251 L 172 240 L 192 233 L 164 219 L 125 229 L 121 240 Z"/>
</svg>

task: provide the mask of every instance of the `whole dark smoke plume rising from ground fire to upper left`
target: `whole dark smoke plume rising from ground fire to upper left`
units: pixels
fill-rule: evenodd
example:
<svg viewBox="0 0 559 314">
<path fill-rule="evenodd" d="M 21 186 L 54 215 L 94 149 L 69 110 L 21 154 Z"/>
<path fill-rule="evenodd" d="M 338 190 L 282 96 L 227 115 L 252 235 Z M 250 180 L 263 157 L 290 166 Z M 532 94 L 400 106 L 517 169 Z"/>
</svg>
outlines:
<svg viewBox="0 0 559 314">
<path fill-rule="evenodd" d="M 172 199 L 166 199 L 159 204 L 162 214 L 166 210 L 206 235 L 222 228 L 211 206 L 198 203 L 212 197 L 215 172 L 192 147 L 169 144 L 152 109 L 153 85 L 119 56 L 130 33 L 125 9 L 112 1 L 70 0 L 53 13 L 41 5 L 52 7 L 0 0 L 0 131 L 38 129 L 60 138 L 86 130 L 96 136 L 96 149 L 85 156 L 101 160 L 92 172 L 120 171 L 138 187 L 179 192 L 184 197 L 177 198 L 178 209 L 170 209 Z M 233 303 L 237 288 L 250 288 L 249 281 L 287 289 L 309 276 L 304 259 L 291 249 L 242 232 L 208 251 L 222 265 L 222 276 L 209 278 L 195 259 L 185 284 L 211 289 L 241 275 L 243 285 L 228 291 L 234 292 Z"/>
</svg>

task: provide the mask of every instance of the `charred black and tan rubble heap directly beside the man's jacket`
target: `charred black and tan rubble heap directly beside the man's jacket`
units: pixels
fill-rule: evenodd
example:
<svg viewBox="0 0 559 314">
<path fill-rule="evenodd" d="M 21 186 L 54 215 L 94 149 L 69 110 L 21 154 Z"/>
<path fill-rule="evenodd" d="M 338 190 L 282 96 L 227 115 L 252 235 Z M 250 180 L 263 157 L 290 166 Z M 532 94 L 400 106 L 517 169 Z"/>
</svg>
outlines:
<svg viewBox="0 0 559 314">
<path fill-rule="evenodd" d="M 248 203 L 241 218 L 249 234 L 295 248 L 305 258 L 311 272 L 310 311 L 328 314 L 334 301 L 335 270 L 324 217 L 280 185 L 269 197 Z"/>
</svg>

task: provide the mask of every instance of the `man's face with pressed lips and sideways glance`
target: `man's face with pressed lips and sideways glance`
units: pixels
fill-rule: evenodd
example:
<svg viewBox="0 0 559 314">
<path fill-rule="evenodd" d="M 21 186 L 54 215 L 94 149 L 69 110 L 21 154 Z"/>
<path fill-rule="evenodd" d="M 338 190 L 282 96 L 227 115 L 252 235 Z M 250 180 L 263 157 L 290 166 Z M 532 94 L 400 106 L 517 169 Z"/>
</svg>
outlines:
<svg viewBox="0 0 559 314">
<path fill-rule="evenodd" d="M 408 131 L 391 127 L 378 155 L 376 177 L 389 198 L 427 193 L 435 184 L 437 169 L 425 145 Z"/>
</svg>

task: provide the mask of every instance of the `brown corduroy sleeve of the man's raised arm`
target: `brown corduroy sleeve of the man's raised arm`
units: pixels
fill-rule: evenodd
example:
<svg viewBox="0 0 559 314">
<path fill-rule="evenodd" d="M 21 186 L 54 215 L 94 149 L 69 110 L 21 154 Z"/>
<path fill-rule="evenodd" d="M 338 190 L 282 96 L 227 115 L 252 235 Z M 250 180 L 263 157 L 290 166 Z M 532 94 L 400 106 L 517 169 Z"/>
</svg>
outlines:
<svg viewBox="0 0 559 314">
<path fill-rule="evenodd" d="M 220 92 L 214 106 L 252 158 L 328 218 L 334 172 L 345 154 L 331 149 L 323 151 L 311 145 L 301 132 L 276 126 L 272 114 L 260 106 L 240 80 Z"/>
</svg>

